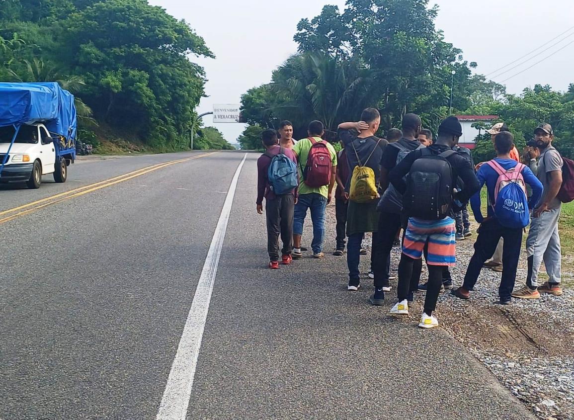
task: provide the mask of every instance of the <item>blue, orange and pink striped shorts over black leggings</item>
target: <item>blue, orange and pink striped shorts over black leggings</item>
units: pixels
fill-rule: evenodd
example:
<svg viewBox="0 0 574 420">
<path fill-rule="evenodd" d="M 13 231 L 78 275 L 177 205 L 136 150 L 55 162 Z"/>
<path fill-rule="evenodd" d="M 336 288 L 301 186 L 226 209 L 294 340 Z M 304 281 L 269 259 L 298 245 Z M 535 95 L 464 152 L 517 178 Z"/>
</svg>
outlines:
<svg viewBox="0 0 574 420">
<path fill-rule="evenodd" d="M 402 253 L 421 259 L 428 244 L 426 263 L 432 266 L 456 265 L 456 225 L 451 217 L 443 220 L 420 220 L 410 217 L 406 227 Z"/>
</svg>

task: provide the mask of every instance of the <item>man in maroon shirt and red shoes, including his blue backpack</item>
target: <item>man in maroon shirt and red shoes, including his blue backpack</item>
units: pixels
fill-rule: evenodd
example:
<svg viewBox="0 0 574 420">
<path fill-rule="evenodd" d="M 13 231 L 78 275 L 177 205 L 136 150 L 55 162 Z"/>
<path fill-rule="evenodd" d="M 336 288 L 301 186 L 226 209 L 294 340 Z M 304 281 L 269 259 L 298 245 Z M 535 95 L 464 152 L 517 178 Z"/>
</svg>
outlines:
<svg viewBox="0 0 574 420">
<path fill-rule="evenodd" d="M 269 268 L 279 268 L 279 236 L 283 242 L 281 262 L 289 265 L 293 251 L 293 211 L 297 203 L 297 156 L 279 146 L 275 130 L 263 130 L 261 140 L 266 151 L 257 160 L 257 213 L 267 216 L 267 252 Z"/>
</svg>

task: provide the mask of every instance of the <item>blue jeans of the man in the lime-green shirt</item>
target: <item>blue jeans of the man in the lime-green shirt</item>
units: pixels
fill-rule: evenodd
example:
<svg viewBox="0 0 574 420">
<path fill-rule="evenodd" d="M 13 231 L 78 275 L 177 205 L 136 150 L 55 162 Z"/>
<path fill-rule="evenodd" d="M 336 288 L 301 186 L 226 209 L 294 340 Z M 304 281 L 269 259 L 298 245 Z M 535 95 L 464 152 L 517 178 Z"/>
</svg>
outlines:
<svg viewBox="0 0 574 420">
<path fill-rule="evenodd" d="M 303 234 L 303 224 L 307 209 L 311 209 L 311 222 L 313 223 L 313 253 L 319 254 L 323 250 L 323 236 L 325 236 L 325 207 L 327 199 L 319 193 L 301 194 L 295 204 L 293 215 L 293 235 Z"/>
</svg>

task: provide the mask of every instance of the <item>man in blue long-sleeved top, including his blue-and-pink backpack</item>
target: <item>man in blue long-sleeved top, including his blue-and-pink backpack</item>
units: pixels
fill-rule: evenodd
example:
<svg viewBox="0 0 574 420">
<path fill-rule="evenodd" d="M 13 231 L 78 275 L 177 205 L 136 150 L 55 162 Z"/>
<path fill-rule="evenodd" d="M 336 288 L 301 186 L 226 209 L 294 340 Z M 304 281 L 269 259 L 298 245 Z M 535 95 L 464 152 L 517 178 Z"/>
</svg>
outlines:
<svg viewBox="0 0 574 420">
<path fill-rule="evenodd" d="M 480 190 L 471 197 L 472 212 L 480 223 L 478 238 L 463 286 L 453 290 L 452 294 L 461 299 L 470 297 L 470 290 L 478 280 L 480 269 L 484 262 L 492 257 L 499 240 L 503 238 L 503 270 L 498 294 L 499 304 L 509 305 L 522 247 L 522 231 L 530 221 L 530 209 L 540 200 L 542 184 L 527 166 L 510 157 L 514 137 L 509 131 L 499 133 L 494 145 L 497 157 L 480 166 L 476 174 L 481 188 L 486 183 L 492 204 L 488 206 L 487 217 L 484 218 L 480 211 Z M 525 184 L 532 188 L 530 201 L 526 196 Z"/>
</svg>

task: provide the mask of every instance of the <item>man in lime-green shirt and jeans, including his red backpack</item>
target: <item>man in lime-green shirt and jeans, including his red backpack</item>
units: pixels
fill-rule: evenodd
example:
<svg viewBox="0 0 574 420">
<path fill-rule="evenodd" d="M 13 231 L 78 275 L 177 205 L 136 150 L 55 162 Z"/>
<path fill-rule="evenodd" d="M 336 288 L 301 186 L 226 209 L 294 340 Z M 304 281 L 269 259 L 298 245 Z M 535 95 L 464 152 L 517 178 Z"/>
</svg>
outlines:
<svg viewBox="0 0 574 420">
<path fill-rule="evenodd" d="M 301 235 L 307 209 L 311 211 L 313 223 L 313 258 L 323 258 L 323 236 L 325 235 L 325 207 L 331 202 L 337 153 L 331 143 L 324 141 L 324 126 L 320 121 L 309 124 L 308 138 L 301 139 L 293 146 L 297 154 L 299 170 L 299 197 L 295 205 L 293 219 L 293 258 L 301 254 Z"/>
</svg>

